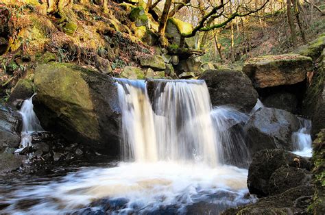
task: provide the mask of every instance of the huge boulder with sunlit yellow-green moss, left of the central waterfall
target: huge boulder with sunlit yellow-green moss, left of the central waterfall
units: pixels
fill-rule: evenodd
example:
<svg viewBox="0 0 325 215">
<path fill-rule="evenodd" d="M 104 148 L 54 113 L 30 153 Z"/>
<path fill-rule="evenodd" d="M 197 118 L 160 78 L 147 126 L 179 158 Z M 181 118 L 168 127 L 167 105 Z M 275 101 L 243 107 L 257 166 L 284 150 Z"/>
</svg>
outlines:
<svg viewBox="0 0 325 215">
<path fill-rule="evenodd" d="M 48 131 L 61 132 L 99 153 L 119 153 L 117 86 L 106 75 L 72 64 L 36 67 L 36 114 Z"/>
</svg>

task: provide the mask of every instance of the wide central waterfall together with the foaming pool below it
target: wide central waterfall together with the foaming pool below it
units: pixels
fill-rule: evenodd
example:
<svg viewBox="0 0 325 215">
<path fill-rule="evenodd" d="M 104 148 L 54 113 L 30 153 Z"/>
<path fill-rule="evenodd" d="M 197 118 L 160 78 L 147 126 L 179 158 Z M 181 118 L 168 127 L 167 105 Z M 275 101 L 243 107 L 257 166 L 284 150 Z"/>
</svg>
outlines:
<svg viewBox="0 0 325 215">
<path fill-rule="evenodd" d="M 0 197 L 4 212 L 101 213 L 109 204 L 112 214 L 183 214 L 205 203 L 219 213 L 254 201 L 245 196 L 248 170 L 224 165 L 245 162 L 237 127 L 248 116 L 213 110 L 204 81 L 117 79 L 117 88 L 124 162 L 12 186 Z"/>
</svg>

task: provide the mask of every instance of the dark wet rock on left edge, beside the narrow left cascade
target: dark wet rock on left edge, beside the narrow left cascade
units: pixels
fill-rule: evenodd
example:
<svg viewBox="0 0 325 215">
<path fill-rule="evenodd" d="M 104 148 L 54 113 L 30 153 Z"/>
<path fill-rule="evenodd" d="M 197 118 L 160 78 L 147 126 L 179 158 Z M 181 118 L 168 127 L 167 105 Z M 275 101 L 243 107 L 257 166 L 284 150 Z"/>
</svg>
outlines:
<svg viewBox="0 0 325 215">
<path fill-rule="evenodd" d="M 0 105 L 0 153 L 6 147 L 16 148 L 21 142 L 22 118 L 19 112 Z"/>
</svg>

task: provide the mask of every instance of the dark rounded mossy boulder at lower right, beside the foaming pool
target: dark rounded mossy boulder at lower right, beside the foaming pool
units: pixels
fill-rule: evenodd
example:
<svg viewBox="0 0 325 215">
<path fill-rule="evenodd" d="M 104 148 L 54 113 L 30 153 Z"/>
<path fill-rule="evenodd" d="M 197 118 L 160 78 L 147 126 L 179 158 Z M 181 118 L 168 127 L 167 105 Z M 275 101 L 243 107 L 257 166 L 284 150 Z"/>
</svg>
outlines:
<svg viewBox="0 0 325 215">
<path fill-rule="evenodd" d="M 282 149 L 258 151 L 248 170 L 247 184 L 250 194 L 266 197 L 300 186 L 309 177 L 302 169 L 311 169 L 311 163 L 304 157 Z M 292 178 L 286 178 L 287 174 Z"/>
</svg>

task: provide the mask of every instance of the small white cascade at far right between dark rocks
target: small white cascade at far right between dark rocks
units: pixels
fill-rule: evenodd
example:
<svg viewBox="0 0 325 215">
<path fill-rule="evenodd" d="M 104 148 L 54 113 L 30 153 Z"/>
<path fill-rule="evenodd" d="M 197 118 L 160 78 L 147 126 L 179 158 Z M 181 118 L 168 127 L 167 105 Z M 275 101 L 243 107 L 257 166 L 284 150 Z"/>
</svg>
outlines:
<svg viewBox="0 0 325 215">
<path fill-rule="evenodd" d="M 293 132 L 291 140 L 295 151 L 293 153 L 303 156 L 311 157 L 313 149 L 311 148 L 311 121 L 305 118 L 299 118 L 300 129 L 296 132 Z"/>
</svg>

